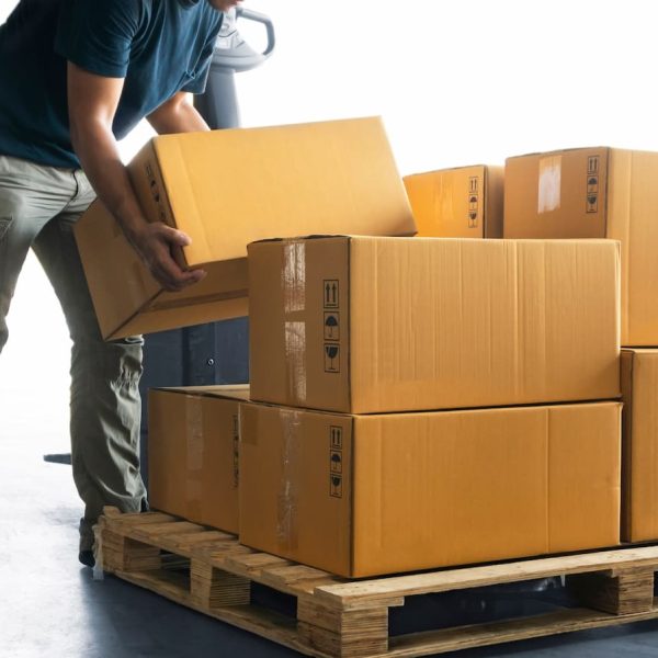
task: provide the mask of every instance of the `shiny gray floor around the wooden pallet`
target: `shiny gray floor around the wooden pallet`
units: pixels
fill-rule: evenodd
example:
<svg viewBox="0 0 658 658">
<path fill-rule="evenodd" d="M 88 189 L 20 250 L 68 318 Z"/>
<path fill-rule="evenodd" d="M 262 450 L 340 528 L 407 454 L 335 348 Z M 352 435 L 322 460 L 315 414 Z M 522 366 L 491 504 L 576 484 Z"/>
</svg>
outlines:
<svg viewBox="0 0 658 658">
<path fill-rule="evenodd" d="M 4 434 L 0 444 L 0 656 L 297 655 L 115 578 L 94 581 L 76 560 L 70 469 L 44 463 L 43 443 Z M 658 622 L 457 656 L 658 656 Z"/>
</svg>

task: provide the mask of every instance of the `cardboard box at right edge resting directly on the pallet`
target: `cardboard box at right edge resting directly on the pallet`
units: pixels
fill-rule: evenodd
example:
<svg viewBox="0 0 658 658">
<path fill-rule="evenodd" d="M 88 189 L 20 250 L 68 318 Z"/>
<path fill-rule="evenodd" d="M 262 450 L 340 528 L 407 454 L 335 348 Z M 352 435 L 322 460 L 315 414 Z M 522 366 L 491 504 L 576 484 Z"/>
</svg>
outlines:
<svg viewBox="0 0 658 658">
<path fill-rule="evenodd" d="M 658 350 L 622 350 L 622 540 L 658 540 Z"/>
</svg>

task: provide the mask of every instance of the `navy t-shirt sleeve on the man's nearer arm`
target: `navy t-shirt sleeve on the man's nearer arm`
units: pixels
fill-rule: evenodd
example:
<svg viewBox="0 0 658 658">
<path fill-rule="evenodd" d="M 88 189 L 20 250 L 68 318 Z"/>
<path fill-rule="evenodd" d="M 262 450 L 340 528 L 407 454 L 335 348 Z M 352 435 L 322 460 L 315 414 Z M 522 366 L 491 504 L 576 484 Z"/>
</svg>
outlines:
<svg viewBox="0 0 658 658">
<path fill-rule="evenodd" d="M 92 73 L 125 78 L 141 9 L 138 0 L 63 0 L 55 50 Z"/>
</svg>

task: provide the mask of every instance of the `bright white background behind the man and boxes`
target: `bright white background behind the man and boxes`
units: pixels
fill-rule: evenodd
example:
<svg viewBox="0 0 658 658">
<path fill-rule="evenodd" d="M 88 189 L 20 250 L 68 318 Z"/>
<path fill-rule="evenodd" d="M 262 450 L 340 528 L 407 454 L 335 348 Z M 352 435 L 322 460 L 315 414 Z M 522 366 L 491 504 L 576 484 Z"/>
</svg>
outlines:
<svg viewBox="0 0 658 658">
<path fill-rule="evenodd" d="M 13 5 L 0 0 L 0 22 Z M 242 123 L 382 115 L 401 174 L 554 148 L 658 150 L 654 5 L 247 0 L 273 19 L 277 46 L 264 66 L 238 77 Z M 241 31 L 260 45 L 259 30 Z M 148 136 L 140 127 L 127 138 L 124 158 Z M 64 452 L 69 342 L 32 257 L 9 320 L 0 439 L 30 424 L 50 438 L 53 452 Z"/>
</svg>

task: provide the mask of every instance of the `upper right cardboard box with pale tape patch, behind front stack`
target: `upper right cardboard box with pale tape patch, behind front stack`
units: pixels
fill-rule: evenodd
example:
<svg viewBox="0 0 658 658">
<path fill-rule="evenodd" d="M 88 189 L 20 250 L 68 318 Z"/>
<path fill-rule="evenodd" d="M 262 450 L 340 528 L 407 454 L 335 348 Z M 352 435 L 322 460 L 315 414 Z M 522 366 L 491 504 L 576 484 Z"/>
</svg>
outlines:
<svg viewBox="0 0 658 658">
<path fill-rule="evenodd" d="M 622 243 L 622 344 L 658 345 L 658 152 L 580 148 L 506 161 L 506 238 Z"/>
</svg>

